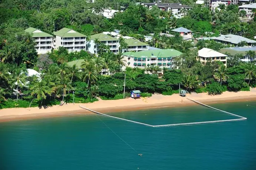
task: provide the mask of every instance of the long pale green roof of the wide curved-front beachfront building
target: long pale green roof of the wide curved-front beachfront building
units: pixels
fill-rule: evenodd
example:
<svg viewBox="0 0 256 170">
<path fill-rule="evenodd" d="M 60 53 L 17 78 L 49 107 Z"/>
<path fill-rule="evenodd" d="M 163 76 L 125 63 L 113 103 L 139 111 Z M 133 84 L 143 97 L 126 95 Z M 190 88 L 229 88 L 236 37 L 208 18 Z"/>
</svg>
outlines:
<svg viewBox="0 0 256 170">
<path fill-rule="evenodd" d="M 163 58 L 180 56 L 182 52 L 174 49 L 144 50 L 139 52 L 124 52 L 124 56 L 137 58 Z"/>
</svg>

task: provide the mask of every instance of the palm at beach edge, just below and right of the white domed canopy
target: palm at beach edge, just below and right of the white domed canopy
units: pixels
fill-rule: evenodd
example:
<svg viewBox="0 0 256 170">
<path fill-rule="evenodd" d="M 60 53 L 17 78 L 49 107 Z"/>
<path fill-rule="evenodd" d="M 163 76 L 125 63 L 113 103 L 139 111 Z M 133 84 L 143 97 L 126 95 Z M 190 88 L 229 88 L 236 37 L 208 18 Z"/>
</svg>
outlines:
<svg viewBox="0 0 256 170">
<path fill-rule="evenodd" d="M 30 90 L 32 90 L 31 92 L 31 96 L 35 95 L 37 96 L 37 99 L 41 99 L 43 98 L 46 99 L 46 95 L 51 95 L 51 91 L 50 91 L 50 88 L 49 86 L 47 86 L 47 83 L 46 81 L 38 81 L 36 82 L 36 84 L 34 84 Z M 34 98 L 35 98 L 34 96 Z M 31 103 L 33 102 L 34 98 L 32 99 L 32 101 L 30 102 L 30 105 L 29 107 L 31 106 Z M 42 102 L 43 102 L 42 100 Z M 42 102 L 41 102 L 41 105 L 42 105 Z"/>
</svg>

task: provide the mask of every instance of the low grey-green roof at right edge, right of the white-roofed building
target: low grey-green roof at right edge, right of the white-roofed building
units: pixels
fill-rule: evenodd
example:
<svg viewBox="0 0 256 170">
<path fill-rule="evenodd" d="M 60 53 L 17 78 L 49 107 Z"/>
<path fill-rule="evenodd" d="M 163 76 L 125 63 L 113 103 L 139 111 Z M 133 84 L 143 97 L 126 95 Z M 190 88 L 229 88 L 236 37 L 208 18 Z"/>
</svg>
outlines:
<svg viewBox="0 0 256 170">
<path fill-rule="evenodd" d="M 256 47 L 247 46 L 247 47 L 229 47 L 229 48 L 220 49 L 220 52 L 224 54 L 227 52 L 228 54 L 231 54 L 231 55 L 235 55 L 235 54 L 246 55 L 246 52 L 248 51 L 256 52 Z"/>
</svg>

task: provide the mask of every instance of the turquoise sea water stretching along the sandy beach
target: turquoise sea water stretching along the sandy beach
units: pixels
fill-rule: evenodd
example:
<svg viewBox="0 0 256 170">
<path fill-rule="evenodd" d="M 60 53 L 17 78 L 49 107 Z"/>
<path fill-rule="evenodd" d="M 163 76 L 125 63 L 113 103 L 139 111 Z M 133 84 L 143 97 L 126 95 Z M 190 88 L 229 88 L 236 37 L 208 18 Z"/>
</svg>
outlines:
<svg viewBox="0 0 256 170">
<path fill-rule="evenodd" d="M 211 106 L 247 120 L 161 128 L 100 115 L 3 122 L 0 170 L 255 170 L 256 102 Z M 200 105 L 109 114 L 152 125 L 236 119 Z"/>
</svg>

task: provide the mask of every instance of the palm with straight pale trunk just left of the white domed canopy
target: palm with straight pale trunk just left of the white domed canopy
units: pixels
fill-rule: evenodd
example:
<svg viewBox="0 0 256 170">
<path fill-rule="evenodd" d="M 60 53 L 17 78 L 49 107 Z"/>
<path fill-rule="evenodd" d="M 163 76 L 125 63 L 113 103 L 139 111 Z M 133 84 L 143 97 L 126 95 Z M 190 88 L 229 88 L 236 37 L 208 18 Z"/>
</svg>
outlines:
<svg viewBox="0 0 256 170">
<path fill-rule="evenodd" d="M 25 75 L 25 71 L 21 68 L 17 68 L 14 73 L 12 74 L 12 80 L 13 80 L 13 84 L 17 85 L 17 102 L 18 102 L 18 88 L 19 86 L 22 87 L 24 84 L 26 84 L 26 75 Z"/>
</svg>

